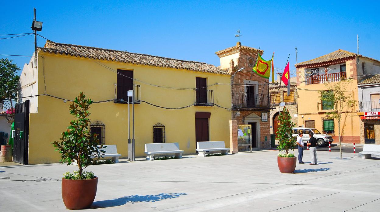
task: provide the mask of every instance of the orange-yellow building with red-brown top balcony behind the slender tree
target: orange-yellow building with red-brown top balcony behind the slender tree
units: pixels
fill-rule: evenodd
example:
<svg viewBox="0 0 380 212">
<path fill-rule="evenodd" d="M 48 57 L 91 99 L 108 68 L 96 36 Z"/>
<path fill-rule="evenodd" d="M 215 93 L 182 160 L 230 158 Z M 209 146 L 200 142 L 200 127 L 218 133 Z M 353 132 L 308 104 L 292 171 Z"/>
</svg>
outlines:
<svg viewBox="0 0 380 212">
<path fill-rule="evenodd" d="M 357 114 L 358 82 L 370 74 L 380 72 L 380 62 L 339 49 L 295 66 L 298 82 L 298 125 L 317 128 L 322 133 L 332 135 L 334 142 L 339 142 L 338 122 L 326 114 L 334 109 L 334 105 L 322 102 L 318 91 L 326 90 L 325 82 L 337 83 L 352 79 L 346 93 L 351 95 L 356 105 L 350 105 L 343 111 L 340 135 L 342 143 L 361 143 L 360 118 Z"/>
</svg>

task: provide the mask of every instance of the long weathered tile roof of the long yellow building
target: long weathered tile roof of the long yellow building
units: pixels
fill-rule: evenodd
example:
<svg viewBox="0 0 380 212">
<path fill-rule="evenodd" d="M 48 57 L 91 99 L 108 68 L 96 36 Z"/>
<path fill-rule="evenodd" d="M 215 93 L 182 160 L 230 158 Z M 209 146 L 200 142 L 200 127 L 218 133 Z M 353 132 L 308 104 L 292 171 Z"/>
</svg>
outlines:
<svg viewBox="0 0 380 212">
<path fill-rule="evenodd" d="M 38 50 L 47 53 L 61 55 L 65 54 L 75 57 L 92 58 L 98 60 L 109 60 L 122 63 L 133 63 L 165 68 L 186 69 L 190 71 L 209 72 L 214 74 L 229 74 L 227 71 L 219 69 L 216 66 L 207 63 L 177 60 L 146 54 L 124 52 L 119 50 L 101 49 L 96 47 L 78 46 L 73 44 L 62 44 L 52 42 L 49 40 L 46 41 L 44 47 L 38 47 Z"/>
</svg>

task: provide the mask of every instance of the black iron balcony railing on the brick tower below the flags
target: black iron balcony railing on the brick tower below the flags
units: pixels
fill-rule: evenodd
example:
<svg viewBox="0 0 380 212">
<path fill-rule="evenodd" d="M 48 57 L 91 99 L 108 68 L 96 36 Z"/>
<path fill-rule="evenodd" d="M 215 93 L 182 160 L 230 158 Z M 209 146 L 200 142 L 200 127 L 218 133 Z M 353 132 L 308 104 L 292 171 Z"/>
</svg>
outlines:
<svg viewBox="0 0 380 212">
<path fill-rule="evenodd" d="M 268 94 L 254 94 L 235 92 L 232 94 L 232 104 L 236 108 L 269 108 L 269 95 Z"/>
</svg>

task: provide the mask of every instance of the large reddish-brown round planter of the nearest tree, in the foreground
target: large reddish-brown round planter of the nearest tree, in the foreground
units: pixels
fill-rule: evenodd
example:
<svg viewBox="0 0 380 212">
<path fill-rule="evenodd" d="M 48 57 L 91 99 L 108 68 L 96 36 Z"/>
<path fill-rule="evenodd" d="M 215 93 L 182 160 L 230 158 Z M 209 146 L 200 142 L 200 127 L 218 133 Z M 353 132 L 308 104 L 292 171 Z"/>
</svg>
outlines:
<svg viewBox="0 0 380 212">
<path fill-rule="evenodd" d="M 89 180 L 68 180 L 62 178 L 62 199 L 67 209 L 89 208 L 96 196 L 98 177 Z"/>
</svg>

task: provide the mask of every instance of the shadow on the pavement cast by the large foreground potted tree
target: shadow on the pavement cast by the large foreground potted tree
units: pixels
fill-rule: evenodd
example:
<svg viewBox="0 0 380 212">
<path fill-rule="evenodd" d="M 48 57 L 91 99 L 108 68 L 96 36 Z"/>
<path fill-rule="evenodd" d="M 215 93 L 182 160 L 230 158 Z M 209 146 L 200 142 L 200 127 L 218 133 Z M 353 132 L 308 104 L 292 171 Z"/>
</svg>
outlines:
<svg viewBox="0 0 380 212">
<path fill-rule="evenodd" d="M 122 206 L 126 203 L 148 203 L 148 202 L 157 202 L 164 199 L 173 199 L 178 198 L 182 195 L 187 195 L 187 193 L 160 193 L 158 195 L 132 195 L 132 196 L 124 196 L 117 199 L 107 199 L 103 201 L 97 201 L 92 204 L 92 208 L 99 207 L 115 207 Z"/>
</svg>

